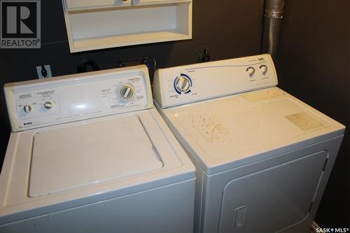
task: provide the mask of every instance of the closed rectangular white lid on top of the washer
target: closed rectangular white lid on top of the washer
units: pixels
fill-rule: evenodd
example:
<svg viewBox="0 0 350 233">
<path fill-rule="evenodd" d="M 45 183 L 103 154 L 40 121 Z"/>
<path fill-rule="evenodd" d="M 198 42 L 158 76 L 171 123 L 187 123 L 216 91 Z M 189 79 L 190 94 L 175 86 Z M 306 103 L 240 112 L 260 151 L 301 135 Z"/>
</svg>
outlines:
<svg viewBox="0 0 350 233">
<path fill-rule="evenodd" d="M 163 167 L 136 115 L 38 132 L 29 197 Z"/>
</svg>

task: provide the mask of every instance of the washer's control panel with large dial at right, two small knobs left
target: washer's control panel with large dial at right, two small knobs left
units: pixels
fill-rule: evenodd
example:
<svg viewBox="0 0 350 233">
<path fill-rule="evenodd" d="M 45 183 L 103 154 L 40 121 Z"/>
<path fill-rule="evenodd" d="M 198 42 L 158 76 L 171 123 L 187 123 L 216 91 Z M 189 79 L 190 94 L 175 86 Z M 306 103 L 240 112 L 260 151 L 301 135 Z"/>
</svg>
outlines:
<svg viewBox="0 0 350 233">
<path fill-rule="evenodd" d="M 146 66 L 8 83 L 13 132 L 153 107 Z"/>
</svg>

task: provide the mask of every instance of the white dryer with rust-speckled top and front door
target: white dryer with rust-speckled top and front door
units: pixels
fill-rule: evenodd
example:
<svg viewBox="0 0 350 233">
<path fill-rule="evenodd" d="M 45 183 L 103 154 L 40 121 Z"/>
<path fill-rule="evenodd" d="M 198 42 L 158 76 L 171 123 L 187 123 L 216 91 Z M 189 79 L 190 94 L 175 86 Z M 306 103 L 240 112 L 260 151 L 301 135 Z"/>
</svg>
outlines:
<svg viewBox="0 0 350 233">
<path fill-rule="evenodd" d="M 157 71 L 158 109 L 197 169 L 195 232 L 308 232 L 344 126 L 276 85 L 269 55 Z"/>
</svg>

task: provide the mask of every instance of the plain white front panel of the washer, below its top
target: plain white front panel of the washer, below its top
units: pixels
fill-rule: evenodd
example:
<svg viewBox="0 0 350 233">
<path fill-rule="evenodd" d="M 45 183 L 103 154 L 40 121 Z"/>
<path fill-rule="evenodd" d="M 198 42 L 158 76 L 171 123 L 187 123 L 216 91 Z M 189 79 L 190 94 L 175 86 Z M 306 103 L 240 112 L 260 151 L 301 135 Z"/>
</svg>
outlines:
<svg viewBox="0 0 350 233">
<path fill-rule="evenodd" d="M 193 232 L 195 179 L 0 226 L 0 232 Z"/>
</svg>

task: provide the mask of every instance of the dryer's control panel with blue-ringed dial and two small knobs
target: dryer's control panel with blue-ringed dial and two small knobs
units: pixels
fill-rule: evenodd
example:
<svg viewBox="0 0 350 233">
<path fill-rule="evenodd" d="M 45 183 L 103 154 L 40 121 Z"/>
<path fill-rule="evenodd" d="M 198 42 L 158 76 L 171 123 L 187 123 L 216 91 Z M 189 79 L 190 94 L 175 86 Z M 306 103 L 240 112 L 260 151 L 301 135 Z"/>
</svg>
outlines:
<svg viewBox="0 0 350 233">
<path fill-rule="evenodd" d="M 270 55 L 158 69 L 153 97 L 161 108 L 277 85 Z"/>
</svg>

